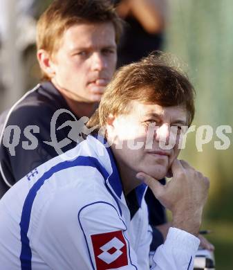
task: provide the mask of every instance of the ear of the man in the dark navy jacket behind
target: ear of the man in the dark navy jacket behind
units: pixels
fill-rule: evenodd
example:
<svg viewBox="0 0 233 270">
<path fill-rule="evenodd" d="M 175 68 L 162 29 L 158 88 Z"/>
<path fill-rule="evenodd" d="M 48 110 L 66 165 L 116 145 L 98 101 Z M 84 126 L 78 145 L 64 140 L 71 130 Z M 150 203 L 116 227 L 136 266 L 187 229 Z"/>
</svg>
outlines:
<svg viewBox="0 0 233 270">
<path fill-rule="evenodd" d="M 37 51 L 37 60 L 41 70 L 44 71 L 49 78 L 53 78 L 55 69 L 50 54 L 47 51 L 40 49 Z"/>
</svg>

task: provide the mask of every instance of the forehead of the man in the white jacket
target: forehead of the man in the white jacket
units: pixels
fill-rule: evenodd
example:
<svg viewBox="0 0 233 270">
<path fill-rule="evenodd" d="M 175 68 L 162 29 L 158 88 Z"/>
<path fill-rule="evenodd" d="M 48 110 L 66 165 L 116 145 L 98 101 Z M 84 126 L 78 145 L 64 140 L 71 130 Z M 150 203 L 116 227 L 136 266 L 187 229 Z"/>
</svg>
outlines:
<svg viewBox="0 0 233 270">
<path fill-rule="evenodd" d="M 132 117 L 137 117 L 139 120 L 147 120 L 148 118 L 159 118 L 168 123 L 186 123 L 187 110 L 183 106 L 163 107 L 157 104 L 145 104 L 133 100 L 131 102 Z"/>
</svg>

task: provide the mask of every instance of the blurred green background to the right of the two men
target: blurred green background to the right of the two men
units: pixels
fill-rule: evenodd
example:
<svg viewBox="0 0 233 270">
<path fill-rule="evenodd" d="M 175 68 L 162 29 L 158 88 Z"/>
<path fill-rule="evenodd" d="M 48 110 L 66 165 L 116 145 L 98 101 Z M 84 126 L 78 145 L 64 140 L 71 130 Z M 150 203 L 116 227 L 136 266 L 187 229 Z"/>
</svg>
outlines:
<svg viewBox="0 0 233 270">
<path fill-rule="evenodd" d="M 196 132 L 187 136 L 182 158 L 209 177 L 209 200 L 203 228 L 215 245 L 216 269 L 233 269 L 233 152 L 231 145 L 216 150 L 219 125 L 233 124 L 233 1 L 172 0 L 165 51 L 187 63 L 196 88 L 196 117 L 193 125 L 210 125 L 212 141 L 196 148 Z"/>
</svg>

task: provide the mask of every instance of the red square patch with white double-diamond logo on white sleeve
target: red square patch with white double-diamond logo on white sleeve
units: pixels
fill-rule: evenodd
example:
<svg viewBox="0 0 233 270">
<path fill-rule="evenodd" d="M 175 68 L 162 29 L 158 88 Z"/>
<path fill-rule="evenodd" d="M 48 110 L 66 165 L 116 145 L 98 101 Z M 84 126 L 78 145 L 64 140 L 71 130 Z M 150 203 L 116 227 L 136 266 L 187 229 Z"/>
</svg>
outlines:
<svg viewBox="0 0 233 270">
<path fill-rule="evenodd" d="M 122 231 L 91 235 L 97 270 L 115 269 L 128 264 L 127 244 Z"/>
</svg>

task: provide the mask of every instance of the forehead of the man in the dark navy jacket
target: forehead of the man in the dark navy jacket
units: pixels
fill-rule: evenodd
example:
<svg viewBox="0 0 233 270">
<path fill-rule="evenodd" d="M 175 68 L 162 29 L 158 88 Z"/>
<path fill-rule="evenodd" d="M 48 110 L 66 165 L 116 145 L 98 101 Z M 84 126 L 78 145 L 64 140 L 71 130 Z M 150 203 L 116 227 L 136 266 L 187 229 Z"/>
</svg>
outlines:
<svg viewBox="0 0 233 270">
<path fill-rule="evenodd" d="M 62 36 L 61 47 L 69 50 L 90 46 L 116 46 L 115 28 L 111 22 L 80 22 L 66 29 Z"/>
</svg>

